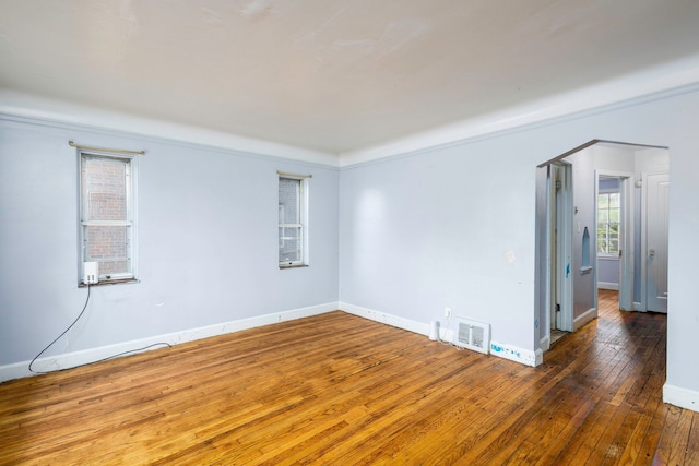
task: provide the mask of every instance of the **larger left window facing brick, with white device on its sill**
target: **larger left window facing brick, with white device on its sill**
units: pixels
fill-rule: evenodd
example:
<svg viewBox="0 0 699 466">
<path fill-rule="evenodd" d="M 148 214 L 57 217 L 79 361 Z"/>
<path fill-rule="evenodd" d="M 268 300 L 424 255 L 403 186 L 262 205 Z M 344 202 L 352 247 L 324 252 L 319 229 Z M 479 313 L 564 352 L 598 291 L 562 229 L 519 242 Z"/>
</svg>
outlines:
<svg viewBox="0 0 699 466">
<path fill-rule="evenodd" d="M 135 278 L 132 157 L 80 153 L 81 271 L 99 264 L 99 280 Z"/>
</svg>

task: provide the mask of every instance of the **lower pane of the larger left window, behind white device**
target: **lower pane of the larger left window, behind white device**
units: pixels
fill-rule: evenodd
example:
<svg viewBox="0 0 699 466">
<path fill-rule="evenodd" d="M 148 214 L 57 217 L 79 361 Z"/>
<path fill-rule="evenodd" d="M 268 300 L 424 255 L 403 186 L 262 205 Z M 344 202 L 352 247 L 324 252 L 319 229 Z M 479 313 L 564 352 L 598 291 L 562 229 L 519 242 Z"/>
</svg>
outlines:
<svg viewBox="0 0 699 466">
<path fill-rule="evenodd" d="M 90 226 L 85 228 L 85 261 L 99 262 L 99 275 L 130 273 L 131 227 Z"/>
</svg>

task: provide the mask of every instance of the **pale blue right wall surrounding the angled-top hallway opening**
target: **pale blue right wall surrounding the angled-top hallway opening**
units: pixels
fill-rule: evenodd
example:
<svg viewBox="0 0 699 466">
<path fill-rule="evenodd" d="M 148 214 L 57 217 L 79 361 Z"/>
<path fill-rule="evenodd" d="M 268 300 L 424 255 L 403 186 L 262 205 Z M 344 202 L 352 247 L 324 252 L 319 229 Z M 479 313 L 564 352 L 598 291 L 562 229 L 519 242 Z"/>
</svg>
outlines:
<svg viewBox="0 0 699 466">
<path fill-rule="evenodd" d="M 420 322 L 442 310 L 491 323 L 491 338 L 538 348 L 536 166 L 594 140 L 670 146 L 668 382 L 699 391 L 692 297 L 699 262 L 699 92 L 683 89 L 344 169 L 340 299 Z M 513 260 L 512 260 L 513 259 Z"/>
</svg>

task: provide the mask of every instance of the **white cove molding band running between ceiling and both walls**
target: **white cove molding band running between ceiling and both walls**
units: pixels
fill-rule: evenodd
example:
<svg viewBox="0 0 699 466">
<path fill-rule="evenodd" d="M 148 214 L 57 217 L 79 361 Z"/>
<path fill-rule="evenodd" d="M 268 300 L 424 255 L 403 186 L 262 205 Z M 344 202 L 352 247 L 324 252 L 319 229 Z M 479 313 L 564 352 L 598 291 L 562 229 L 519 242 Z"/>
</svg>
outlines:
<svg viewBox="0 0 699 466">
<path fill-rule="evenodd" d="M 699 88 L 699 53 L 543 99 L 482 115 L 371 147 L 341 154 L 312 151 L 222 131 L 149 119 L 0 89 L 0 113 L 92 130 L 204 145 L 333 168 L 360 166 L 429 148 L 495 136 L 663 98 Z"/>
</svg>

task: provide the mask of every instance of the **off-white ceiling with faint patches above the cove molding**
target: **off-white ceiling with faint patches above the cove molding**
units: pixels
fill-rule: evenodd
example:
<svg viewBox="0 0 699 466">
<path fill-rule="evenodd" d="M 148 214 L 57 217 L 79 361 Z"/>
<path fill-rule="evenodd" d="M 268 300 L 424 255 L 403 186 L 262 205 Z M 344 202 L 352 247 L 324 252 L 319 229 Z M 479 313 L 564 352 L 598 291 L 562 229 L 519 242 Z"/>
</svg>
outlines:
<svg viewBox="0 0 699 466">
<path fill-rule="evenodd" d="M 1 89 L 333 155 L 697 53 L 697 0 L 0 0 Z"/>
</svg>

